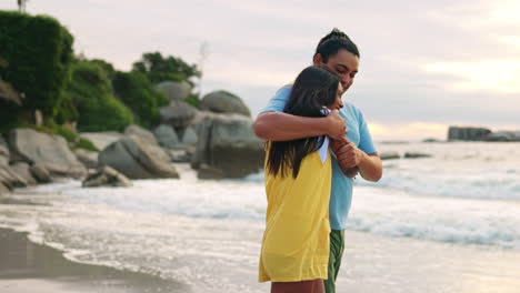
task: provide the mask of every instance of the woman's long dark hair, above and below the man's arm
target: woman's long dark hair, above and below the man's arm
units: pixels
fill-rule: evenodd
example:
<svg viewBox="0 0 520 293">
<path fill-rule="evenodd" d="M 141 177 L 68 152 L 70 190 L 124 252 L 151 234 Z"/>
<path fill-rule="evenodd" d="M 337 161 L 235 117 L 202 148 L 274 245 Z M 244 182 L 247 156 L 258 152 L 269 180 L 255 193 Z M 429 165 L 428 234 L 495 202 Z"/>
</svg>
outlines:
<svg viewBox="0 0 520 293">
<path fill-rule="evenodd" d="M 283 112 L 300 117 L 324 117 L 322 109 L 334 103 L 339 81 L 338 75 L 328 70 L 319 67 L 306 68 L 296 79 Z M 288 170 L 292 169 L 292 176 L 297 178 L 303 158 L 318 151 L 323 141 L 324 135 L 268 142 L 268 172 L 274 176 L 286 176 Z"/>
</svg>

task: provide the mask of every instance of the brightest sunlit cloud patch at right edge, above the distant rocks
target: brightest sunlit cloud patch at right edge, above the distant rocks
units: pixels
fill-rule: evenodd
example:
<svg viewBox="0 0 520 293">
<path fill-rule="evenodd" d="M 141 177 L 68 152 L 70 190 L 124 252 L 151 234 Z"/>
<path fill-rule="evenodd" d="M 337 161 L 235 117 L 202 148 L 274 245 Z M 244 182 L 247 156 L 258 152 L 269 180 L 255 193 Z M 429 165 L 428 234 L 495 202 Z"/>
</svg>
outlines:
<svg viewBox="0 0 520 293">
<path fill-rule="evenodd" d="M 477 62 L 437 62 L 423 69 L 431 73 L 453 75 L 448 84 L 453 90 L 520 92 L 520 60 L 482 60 Z"/>
</svg>

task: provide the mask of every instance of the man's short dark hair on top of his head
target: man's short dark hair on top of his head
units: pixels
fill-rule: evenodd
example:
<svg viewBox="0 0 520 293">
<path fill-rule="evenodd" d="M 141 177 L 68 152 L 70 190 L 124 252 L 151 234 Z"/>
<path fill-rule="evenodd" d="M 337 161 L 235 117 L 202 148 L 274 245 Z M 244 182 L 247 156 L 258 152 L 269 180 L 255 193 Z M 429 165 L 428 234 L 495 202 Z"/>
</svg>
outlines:
<svg viewBox="0 0 520 293">
<path fill-rule="evenodd" d="M 329 34 L 320 40 L 316 48 L 314 55 L 319 53 L 321 55 L 321 60 L 327 63 L 329 61 L 329 57 L 336 55 L 340 49 L 344 49 L 359 58 L 359 50 L 356 43 L 352 42 L 349 36 L 344 32 L 334 28 L 329 32 Z"/>
</svg>

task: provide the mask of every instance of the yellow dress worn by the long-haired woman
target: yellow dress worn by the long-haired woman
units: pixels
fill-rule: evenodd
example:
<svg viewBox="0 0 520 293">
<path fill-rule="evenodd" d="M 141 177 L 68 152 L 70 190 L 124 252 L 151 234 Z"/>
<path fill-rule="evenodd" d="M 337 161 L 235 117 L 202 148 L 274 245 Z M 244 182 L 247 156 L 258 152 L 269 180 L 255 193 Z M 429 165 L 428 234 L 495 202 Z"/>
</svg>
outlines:
<svg viewBox="0 0 520 293">
<path fill-rule="evenodd" d="M 266 168 L 268 199 L 259 282 L 327 279 L 331 159 L 308 154 L 294 179 L 273 176 Z"/>
</svg>

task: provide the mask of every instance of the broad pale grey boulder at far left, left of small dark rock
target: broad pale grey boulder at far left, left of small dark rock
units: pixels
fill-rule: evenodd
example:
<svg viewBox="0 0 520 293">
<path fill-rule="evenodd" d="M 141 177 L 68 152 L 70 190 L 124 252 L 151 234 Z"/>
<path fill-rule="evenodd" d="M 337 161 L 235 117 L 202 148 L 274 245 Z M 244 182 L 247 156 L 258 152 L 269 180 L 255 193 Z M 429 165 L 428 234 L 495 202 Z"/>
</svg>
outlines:
<svg viewBox="0 0 520 293">
<path fill-rule="evenodd" d="M 14 129 L 9 135 L 9 146 L 16 160 L 31 165 L 42 164 L 53 175 L 79 179 L 87 174 L 87 169 L 62 137 L 32 129 Z"/>
</svg>

